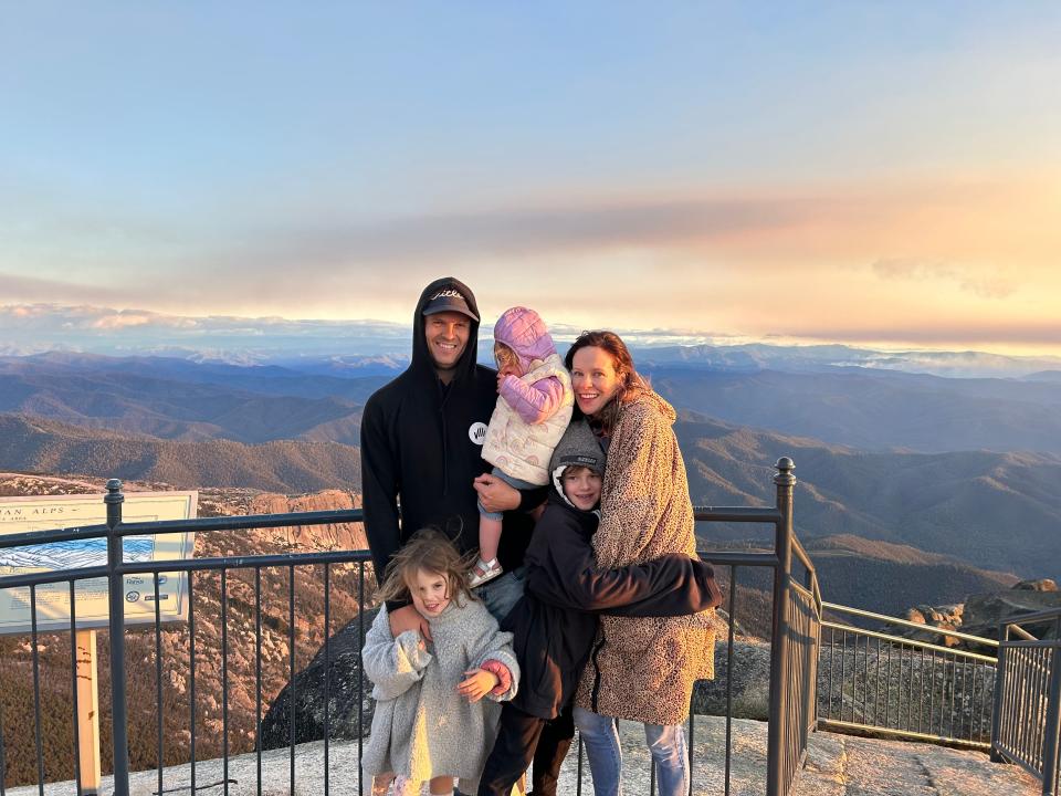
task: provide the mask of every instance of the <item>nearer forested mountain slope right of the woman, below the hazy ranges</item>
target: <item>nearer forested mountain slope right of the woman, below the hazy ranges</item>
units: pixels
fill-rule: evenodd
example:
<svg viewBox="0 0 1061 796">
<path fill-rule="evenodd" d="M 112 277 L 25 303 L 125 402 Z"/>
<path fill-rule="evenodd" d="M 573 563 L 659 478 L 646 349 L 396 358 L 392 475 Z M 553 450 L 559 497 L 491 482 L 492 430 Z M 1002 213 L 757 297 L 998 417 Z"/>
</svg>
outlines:
<svg viewBox="0 0 1061 796">
<path fill-rule="evenodd" d="M 790 455 L 802 540 L 854 535 L 1028 577 L 1054 577 L 1061 569 L 1055 454 L 864 452 L 692 412 L 682 415 L 675 431 L 696 504 L 773 502 L 774 463 Z M 712 533 L 737 540 L 748 530 L 712 526 Z M 769 531 L 757 538 L 769 540 Z"/>
</svg>

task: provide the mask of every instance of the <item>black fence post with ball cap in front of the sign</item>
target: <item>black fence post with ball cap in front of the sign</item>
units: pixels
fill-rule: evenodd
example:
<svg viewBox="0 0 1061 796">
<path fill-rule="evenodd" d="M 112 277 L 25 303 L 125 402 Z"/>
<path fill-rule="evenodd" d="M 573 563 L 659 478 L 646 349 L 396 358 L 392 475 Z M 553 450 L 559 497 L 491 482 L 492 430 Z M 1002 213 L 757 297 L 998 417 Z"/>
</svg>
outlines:
<svg viewBox="0 0 1061 796">
<path fill-rule="evenodd" d="M 114 743 L 114 796 L 129 794 L 128 712 L 125 699 L 125 559 L 118 526 L 122 524 L 122 482 L 107 481 L 107 596 L 111 601 L 111 737 Z"/>
</svg>

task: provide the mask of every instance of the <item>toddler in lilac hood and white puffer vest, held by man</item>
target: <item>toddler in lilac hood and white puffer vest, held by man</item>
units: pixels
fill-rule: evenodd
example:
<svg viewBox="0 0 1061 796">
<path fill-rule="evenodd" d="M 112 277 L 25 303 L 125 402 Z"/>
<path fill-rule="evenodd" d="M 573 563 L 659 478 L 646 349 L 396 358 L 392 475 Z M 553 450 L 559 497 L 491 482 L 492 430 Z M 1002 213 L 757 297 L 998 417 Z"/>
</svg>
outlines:
<svg viewBox="0 0 1061 796">
<path fill-rule="evenodd" d="M 493 474 L 518 490 L 549 482 L 547 465 L 571 419 L 571 377 L 556 352 L 545 323 L 534 310 L 505 310 L 494 324 L 497 406 L 490 417 L 483 459 Z M 475 588 L 502 574 L 497 562 L 501 513 L 479 504 L 479 562 Z"/>
</svg>

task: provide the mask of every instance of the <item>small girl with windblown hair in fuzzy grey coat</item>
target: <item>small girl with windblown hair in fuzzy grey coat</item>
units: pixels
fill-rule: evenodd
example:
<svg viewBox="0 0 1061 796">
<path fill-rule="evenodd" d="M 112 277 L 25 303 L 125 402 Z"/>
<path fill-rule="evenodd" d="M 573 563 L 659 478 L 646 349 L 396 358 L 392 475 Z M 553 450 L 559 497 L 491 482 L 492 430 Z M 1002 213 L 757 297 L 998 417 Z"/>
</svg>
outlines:
<svg viewBox="0 0 1061 796">
<path fill-rule="evenodd" d="M 374 775 L 374 796 L 391 782 L 395 796 L 419 794 L 424 782 L 432 794 L 452 794 L 454 777 L 477 782 L 496 733 L 496 703 L 516 693 L 512 633 L 497 629 L 466 576 L 453 544 L 430 528 L 417 532 L 387 567 L 380 601 L 411 600 L 431 627 L 431 641 L 417 630 L 393 638 L 386 605 L 365 636 L 376 714 L 361 765 Z"/>
</svg>

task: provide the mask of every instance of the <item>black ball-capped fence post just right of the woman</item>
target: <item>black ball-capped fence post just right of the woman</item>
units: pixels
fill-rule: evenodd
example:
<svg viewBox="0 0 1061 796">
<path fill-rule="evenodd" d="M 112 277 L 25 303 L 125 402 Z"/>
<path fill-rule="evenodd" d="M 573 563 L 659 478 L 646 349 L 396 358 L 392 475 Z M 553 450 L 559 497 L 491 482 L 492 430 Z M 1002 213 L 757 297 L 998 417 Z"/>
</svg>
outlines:
<svg viewBox="0 0 1061 796">
<path fill-rule="evenodd" d="M 774 628 L 770 633 L 770 722 L 767 730 L 766 796 L 784 796 L 788 789 L 785 761 L 788 757 L 789 671 L 786 666 L 788 651 L 788 580 L 792 572 L 792 489 L 796 465 L 788 457 L 777 460 L 777 511 L 780 519 L 775 528 L 774 549 L 777 569 L 774 573 Z"/>
</svg>

